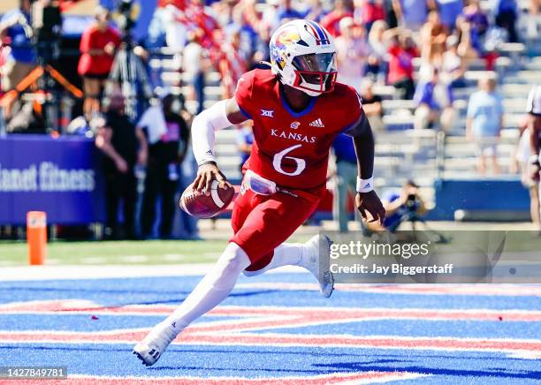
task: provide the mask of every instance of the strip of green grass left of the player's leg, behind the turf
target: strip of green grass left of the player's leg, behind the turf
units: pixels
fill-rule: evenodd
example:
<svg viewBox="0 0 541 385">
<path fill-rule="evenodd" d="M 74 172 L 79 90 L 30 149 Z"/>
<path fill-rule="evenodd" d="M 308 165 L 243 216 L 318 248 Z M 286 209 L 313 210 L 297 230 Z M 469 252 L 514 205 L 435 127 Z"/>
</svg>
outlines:
<svg viewBox="0 0 541 385">
<path fill-rule="evenodd" d="M 47 260 L 55 264 L 83 265 L 205 263 L 216 260 L 226 243 L 225 240 L 57 241 L 47 245 Z M 26 243 L 0 242 L 0 266 L 26 264 Z"/>
</svg>

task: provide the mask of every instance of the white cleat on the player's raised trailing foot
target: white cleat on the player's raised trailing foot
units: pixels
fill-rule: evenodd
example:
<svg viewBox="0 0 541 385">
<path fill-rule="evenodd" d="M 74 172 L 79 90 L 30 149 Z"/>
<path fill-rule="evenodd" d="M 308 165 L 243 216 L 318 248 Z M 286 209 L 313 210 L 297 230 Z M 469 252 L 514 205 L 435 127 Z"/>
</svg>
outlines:
<svg viewBox="0 0 541 385">
<path fill-rule="evenodd" d="M 319 241 L 320 238 L 325 245 L 325 254 L 319 254 Z M 316 277 L 317 282 L 319 283 L 319 291 L 325 298 L 331 297 L 332 291 L 334 290 L 334 278 L 332 276 L 331 270 L 327 266 L 324 268 L 324 271 L 320 271 L 322 266 L 320 266 L 319 260 L 321 257 L 329 258 L 329 253 L 331 253 L 332 241 L 328 237 L 315 235 L 310 238 L 303 246 L 302 258 L 301 258 L 301 267 L 306 268 L 312 276 Z"/>
</svg>

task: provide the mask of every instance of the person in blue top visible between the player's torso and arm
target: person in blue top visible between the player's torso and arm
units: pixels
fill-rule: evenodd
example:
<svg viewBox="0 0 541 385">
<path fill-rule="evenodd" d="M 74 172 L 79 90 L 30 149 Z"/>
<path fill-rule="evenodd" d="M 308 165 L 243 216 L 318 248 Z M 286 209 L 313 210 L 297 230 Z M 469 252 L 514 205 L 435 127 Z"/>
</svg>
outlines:
<svg viewBox="0 0 541 385">
<path fill-rule="evenodd" d="M 338 192 L 334 193 L 332 214 L 339 223 L 340 232 L 347 231 L 347 195 L 354 193 L 357 183 L 357 160 L 353 140 L 340 134 L 332 143 L 336 156 L 336 185 Z"/>
</svg>

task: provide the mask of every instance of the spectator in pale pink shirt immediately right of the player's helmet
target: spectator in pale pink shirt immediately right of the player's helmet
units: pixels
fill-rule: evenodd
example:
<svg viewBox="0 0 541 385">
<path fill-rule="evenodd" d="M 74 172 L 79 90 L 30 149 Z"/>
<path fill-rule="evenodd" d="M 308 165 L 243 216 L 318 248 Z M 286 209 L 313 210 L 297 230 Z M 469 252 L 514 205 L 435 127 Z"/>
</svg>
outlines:
<svg viewBox="0 0 541 385">
<path fill-rule="evenodd" d="M 370 46 L 364 39 L 364 28 L 355 26 L 353 18 L 343 18 L 339 25 L 340 35 L 334 41 L 339 71 L 338 80 L 359 89 L 366 59 L 370 54 Z"/>
</svg>

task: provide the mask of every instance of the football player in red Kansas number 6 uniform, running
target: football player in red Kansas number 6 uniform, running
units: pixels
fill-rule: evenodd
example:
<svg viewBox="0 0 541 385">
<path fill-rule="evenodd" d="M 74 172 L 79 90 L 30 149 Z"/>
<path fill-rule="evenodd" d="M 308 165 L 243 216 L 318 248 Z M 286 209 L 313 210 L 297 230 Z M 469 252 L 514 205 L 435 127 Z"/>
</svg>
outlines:
<svg viewBox="0 0 541 385">
<path fill-rule="evenodd" d="M 213 153 L 215 131 L 252 119 L 255 141 L 234 201 L 233 237 L 179 308 L 134 347 L 143 364 L 156 363 L 184 328 L 221 303 L 240 273 L 255 276 L 280 266 L 301 266 L 316 277 L 322 294 L 331 296 L 331 272 L 319 271 L 320 242 L 328 253 L 331 241 L 316 236 L 305 244 L 284 242 L 323 197 L 329 150 L 342 132 L 353 138 L 357 154 L 356 206 L 363 217 L 368 212 L 371 221 L 383 222 L 385 209 L 373 190 L 370 125 L 359 95 L 336 83 L 336 76 L 331 34 L 313 21 L 294 20 L 270 38 L 270 70 L 245 73 L 232 99 L 194 118 L 193 147 L 199 164 L 194 185 L 207 194 L 215 179 L 232 188 Z"/>
</svg>

